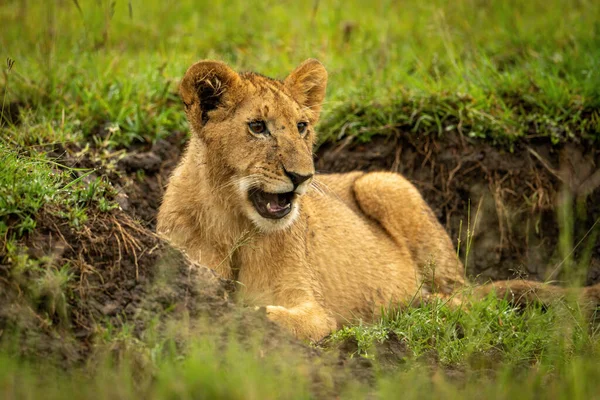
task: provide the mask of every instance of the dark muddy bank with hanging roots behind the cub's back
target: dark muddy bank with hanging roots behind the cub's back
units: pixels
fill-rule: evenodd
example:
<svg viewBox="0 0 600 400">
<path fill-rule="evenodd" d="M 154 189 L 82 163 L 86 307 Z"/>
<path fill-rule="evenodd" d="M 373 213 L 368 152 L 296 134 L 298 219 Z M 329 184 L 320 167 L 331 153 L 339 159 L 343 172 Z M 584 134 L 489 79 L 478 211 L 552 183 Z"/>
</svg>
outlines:
<svg viewBox="0 0 600 400">
<path fill-rule="evenodd" d="M 396 133 L 317 151 L 321 173 L 396 171 L 421 191 L 477 281 L 525 277 L 600 281 L 600 150 L 532 139 L 513 152 L 458 133 Z M 559 210 L 562 210 L 559 212 Z M 569 228 L 572 226 L 572 230 Z M 572 236 L 566 232 L 572 231 Z M 561 236 L 562 235 L 562 236 Z M 563 237 L 567 245 L 560 250 Z M 570 244 L 572 243 L 572 244 Z M 573 252 L 574 262 L 565 255 Z M 589 260 L 588 260 L 589 258 Z"/>
</svg>

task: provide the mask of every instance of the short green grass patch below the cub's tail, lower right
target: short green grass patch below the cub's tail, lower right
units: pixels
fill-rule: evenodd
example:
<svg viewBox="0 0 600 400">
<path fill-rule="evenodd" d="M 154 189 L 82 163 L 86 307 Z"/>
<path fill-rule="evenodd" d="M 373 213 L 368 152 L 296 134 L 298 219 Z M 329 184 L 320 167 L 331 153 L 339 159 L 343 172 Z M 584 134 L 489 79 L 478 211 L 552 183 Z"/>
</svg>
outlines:
<svg viewBox="0 0 600 400">
<path fill-rule="evenodd" d="M 561 321 L 566 325 L 561 326 Z M 354 340 L 356 354 L 377 357 L 377 344 L 390 335 L 409 349 L 408 358 L 431 357 L 446 366 L 468 366 L 485 355 L 491 362 L 513 367 L 544 364 L 555 354 L 600 350 L 600 332 L 588 331 L 587 318 L 575 306 L 539 306 L 519 310 L 489 296 L 448 307 L 442 301 L 386 312 L 375 324 L 349 326 L 335 332 L 330 343 Z"/>
</svg>

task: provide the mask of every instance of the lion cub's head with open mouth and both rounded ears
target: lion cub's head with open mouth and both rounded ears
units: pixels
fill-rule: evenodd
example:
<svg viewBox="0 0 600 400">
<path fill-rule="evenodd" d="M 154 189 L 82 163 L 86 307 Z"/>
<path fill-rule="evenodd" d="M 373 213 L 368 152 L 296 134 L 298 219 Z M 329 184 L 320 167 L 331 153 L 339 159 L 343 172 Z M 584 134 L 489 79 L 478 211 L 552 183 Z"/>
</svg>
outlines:
<svg viewBox="0 0 600 400">
<path fill-rule="evenodd" d="M 314 59 L 281 81 L 200 61 L 181 82 L 213 193 L 263 231 L 298 215 L 315 172 L 314 127 L 326 85 L 327 71 Z"/>
</svg>

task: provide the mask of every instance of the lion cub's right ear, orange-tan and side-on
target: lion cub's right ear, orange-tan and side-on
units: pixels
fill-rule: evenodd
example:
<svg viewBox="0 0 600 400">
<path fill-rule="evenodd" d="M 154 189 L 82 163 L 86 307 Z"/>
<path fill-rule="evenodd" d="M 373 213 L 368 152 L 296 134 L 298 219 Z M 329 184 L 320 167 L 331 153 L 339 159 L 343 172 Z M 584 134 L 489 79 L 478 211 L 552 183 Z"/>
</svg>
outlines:
<svg viewBox="0 0 600 400">
<path fill-rule="evenodd" d="M 309 58 L 285 78 L 285 85 L 300 105 L 312 111 L 311 123 L 316 123 L 327 88 L 327 70 L 314 58 Z"/>
</svg>

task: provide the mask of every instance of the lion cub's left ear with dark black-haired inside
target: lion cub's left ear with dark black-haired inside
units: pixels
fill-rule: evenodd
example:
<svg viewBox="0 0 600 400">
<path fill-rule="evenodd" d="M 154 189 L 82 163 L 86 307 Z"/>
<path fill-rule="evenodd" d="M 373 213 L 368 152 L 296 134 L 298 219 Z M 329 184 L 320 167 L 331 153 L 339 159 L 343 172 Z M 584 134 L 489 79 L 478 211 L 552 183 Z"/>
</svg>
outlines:
<svg viewBox="0 0 600 400">
<path fill-rule="evenodd" d="M 227 106 L 227 98 L 234 91 L 240 76 L 220 61 L 198 61 L 188 68 L 181 84 L 179 95 L 193 128 L 199 130 L 209 119 L 209 113 Z"/>
</svg>

